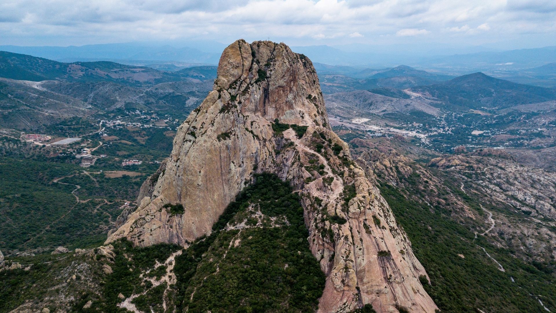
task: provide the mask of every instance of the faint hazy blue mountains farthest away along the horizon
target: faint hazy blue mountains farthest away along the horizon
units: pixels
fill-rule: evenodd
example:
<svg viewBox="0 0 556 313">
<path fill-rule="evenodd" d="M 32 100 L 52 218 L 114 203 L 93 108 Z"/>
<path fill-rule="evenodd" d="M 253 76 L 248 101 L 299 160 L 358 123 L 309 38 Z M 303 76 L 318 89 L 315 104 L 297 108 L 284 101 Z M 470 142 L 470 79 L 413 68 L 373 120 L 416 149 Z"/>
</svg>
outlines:
<svg viewBox="0 0 556 313">
<path fill-rule="evenodd" d="M 108 43 L 85 46 L 0 46 L 1 51 L 22 53 L 63 62 L 76 61 L 116 61 L 126 63 L 131 60 L 175 61 L 216 65 L 221 49 L 225 45 L 218 42 L 184 42 L 178 46 L 156 43 Z M 429 53 L 411 53 L 399 47 L 398 52 L 380 52 L 360 47 L 296 46 L 294 52 L 304 53 L 313 62 L 330 65 L 355 67 L 391 66 L 409 64 L 419 67 L 451 69 L 454 72 L 486 71 L 492 69 L 527 69 L 556 62 L 556 46 L 509 51 L 485 51 L 446 55 L 456 50 L 439 50 Z M 472 51 L 472 50 L 464 50 Z M 476 51 L 474 49 L 473 51 Z M 315 68 L 318 69 L 318 65 Z"/>
</svg>

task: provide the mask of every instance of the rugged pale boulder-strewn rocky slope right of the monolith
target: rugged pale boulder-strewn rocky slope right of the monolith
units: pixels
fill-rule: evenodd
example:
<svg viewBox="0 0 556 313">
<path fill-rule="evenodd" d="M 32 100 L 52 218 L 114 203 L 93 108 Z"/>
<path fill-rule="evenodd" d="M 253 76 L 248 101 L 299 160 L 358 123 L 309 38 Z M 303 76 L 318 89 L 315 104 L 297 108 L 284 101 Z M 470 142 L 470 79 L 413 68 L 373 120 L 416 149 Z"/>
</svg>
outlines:
<svg viewBox="0 0 556 313">
<path fill-rule="evenodd" d="M 358 146 L 352 153 L 370 178 L 376 173 L 380 183 L 426 206 L 449 206 L 455 221 L 524 262 L 556 257 L 554 173 L 519 164 L 502 149 L 459 149 L 437 157 L 390 138 L 350 143 Z M 432 158 L 429 166 L 415 162 L 423 155 Z"/>
</svg>

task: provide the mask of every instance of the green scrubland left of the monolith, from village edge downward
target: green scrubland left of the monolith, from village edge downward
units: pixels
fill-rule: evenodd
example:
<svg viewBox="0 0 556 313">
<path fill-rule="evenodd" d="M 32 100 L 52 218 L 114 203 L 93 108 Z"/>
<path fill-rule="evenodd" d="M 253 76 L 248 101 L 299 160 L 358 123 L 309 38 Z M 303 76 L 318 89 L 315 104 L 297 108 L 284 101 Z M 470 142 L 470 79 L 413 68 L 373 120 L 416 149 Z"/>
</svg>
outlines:
<svg viewBox="0 0 556 313">
<path fill-rule="evenodd" d="M 72 134 L 83 131 L 82 121 L 70 119 L 49 127 L 55 135 Z M 148 160 L 162 160 L 172 148 L 167 129 L 123 128 L 111 130 L 112 134 L 117 138 L 105 140 L 95 151 L 108 157 L 97 159 L 90 168 L 79 167 L 80 159 L 65 150 L 65 155 L 51 156 L 61 150 L 58 147 L 2 138 L 0 155 L 9 156 L 0 158 L 0 250 L 4 254 L 58 246 L 84 248 L 106 239 L 122 204 L 133 202 L 145 178 L 158 168 Z M 88 143 L 88 147 L 97 145 Z M 122 168 L 123 158 L 143 163 Z M 136 173 L 114 177 L 107 173 L 110 170 Z"/>
</svg>

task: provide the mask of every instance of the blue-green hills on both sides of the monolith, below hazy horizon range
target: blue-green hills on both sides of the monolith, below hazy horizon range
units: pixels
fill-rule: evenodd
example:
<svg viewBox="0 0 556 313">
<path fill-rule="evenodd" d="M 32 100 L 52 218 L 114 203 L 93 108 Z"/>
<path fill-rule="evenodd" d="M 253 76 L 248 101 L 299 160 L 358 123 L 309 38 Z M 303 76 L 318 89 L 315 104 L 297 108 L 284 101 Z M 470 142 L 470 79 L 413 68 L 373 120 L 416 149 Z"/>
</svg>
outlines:
<svg viewBox="0 0 556 313">
<path fill-rule="evenodd" d="M 165 110 L 185 104 L 187 111 L 210 90 L 216 77 L 215 66 L 156 64 L 171 70 L 109 61 L 64 63 L 0 51 L 2 124 L 33 128 L 37 123 L 32 120 L 51 124 L 60 118 L 118 107 Z M 530 72 L 548 76 L 553 67 L 554 63 L 549 63 Z M 480 72 L 453 78 L 406 65 L 375 70 L 315 63 L 315 68 L 322 90 L 331 95 L 327 96 L 331 104 L 369 114 L 413 115 L 419 111 L 436 116 L 439 111 L 435 107 L 503 110 L 556 100 L 554 89 L 517 84 Z"/>
</svg>

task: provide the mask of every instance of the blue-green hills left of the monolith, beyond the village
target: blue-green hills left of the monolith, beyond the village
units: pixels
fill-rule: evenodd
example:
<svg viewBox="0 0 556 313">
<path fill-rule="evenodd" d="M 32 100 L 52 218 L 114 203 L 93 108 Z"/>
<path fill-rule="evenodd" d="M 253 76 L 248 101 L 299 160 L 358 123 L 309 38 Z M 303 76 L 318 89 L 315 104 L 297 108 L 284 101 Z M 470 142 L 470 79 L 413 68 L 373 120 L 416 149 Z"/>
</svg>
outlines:
<svg viewBox="0 0 556 313">
<path fill-rule="evenodd" d="M 64 119 L 117 109 L 186 115 L 206 96 L 215 77 L 214 66 L 171 72 L 0 51 L 0 126 L 41 130 Z"/>
</svg>

